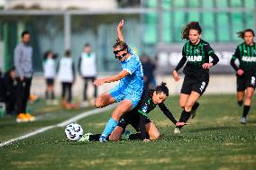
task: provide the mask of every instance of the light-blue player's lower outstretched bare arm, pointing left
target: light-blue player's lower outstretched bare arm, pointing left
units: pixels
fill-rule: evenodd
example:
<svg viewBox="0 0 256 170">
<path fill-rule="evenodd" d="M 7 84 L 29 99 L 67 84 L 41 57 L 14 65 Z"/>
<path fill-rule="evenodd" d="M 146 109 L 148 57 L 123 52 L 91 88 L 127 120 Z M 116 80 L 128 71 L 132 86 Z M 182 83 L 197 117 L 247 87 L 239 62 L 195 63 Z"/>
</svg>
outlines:
<svg viewBox="0 0 256 170">
<path fill-rule="evenodd" d="M 99 85 L 103 85 L 105 83 L 111 83 L 111 82 L 115 82 L 118 80 L 121 80 L 124 76 L 128 76 L 130 73 L 126 70 L 122 70 L 119 74 L 114 75 L 114 76 L 107 76 L 105 78 L 99 78 L 96 79 L 96 81 L 94 81 L 94 85 L 99 86 Z"/>
</svg>

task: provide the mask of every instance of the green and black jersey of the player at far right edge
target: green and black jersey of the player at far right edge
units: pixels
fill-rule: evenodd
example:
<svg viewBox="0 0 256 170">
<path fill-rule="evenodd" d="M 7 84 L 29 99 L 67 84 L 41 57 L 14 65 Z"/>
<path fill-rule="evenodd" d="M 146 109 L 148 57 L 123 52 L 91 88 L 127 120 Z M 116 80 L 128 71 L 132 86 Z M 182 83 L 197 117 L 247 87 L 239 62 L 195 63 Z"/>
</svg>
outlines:
<svg viewBox="0 0 256 170">
<path fill-rule="evenodd" d="M 235 67 L 234 60 L 239 60 L 239 67 Z M 238 45 L 231 59 L 231 65 L 237 71 L 238 68 L 244 72 L 256 71 L 256 43 L 252 46 L 246 45 L 245 42 Z"/>
</svg>

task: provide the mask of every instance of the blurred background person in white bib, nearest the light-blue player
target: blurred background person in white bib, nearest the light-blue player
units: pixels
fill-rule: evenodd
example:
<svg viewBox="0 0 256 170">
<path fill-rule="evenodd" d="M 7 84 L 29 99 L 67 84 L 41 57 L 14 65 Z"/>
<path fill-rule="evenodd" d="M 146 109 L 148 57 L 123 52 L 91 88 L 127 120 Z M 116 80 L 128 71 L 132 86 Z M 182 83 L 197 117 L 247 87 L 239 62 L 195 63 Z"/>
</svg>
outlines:
<svg viewBox="0 0 256 170">
<path fill-rule="evenodd" d="M 92 83 L 96 80 L 96 54 L 92 51 L 90 44 L 86 44 L 84 46 L 84 51 L 81 53 L 78 60 L 78 72 L 80 76 L 83 77 L 85 81 L 85 89 L 84 89 L 84 102 L 83 106 L 87 106 L 89 103 L 87 101 L 87 85 L 88 81 Z M 97 87 L 94 85 L 94 97 L 96 98 Z M 95 99 L 91 99 L 91 102 L 94 104 Z"/>
</svg>

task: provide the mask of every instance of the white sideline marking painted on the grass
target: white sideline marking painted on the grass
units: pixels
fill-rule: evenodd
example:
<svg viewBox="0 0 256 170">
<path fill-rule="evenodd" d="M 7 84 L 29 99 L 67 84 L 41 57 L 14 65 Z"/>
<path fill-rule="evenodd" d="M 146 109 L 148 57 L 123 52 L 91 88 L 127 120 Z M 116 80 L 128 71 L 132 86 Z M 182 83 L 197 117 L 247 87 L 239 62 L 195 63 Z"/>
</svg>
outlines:
<svg viewBox="0 0 256 170">
<path fill-rule="evenodd" d="M 60 122 L 60 123 L 58 123 L 58 124 L 56 124 L 56 125 L 47 126 L 47 127 L 41 128 L 41 129 L 39 129 L 39 130 L 35 130 L 35 131 L 30 132 L 30 133 L 27 133 L 27 134 L 25 134 L 25 135 L 23 135 L 23 136 L 20 136 L 20 137 L 18 137 L 18 138 L 10 139 L 10 140 L 7 140 L 7 141 L 5 141 L 5 142 L 2 142 L 2 143 L 0 143 L 0 148 L 4 147 L 4 146 L 6 146 L 6 145 L 12 144 L 12 143 L 13 143 L 14 141 L 16 141 L 16 140 L 27 139 L 27 138 L 29 138 L 29 137 L 31 137 L 31 136 L 33 136 L 33 135 L 37 135 L 37 134 L 39 134 L 39 133 L 41 133 L 41 132 L 43 132 L 43 131 L 51 130 L 51 129 L 57 128 L 57 127 L 64 127 L 64 126 L 68 125 L 68 124 L 71 123 L 71 122 L 78 121 L 78 120 L 83 119 L 83 118 L 85 118 L 85 117 L 87 117 L 87 116 L 91 116 L 91 115 L 94 115 L 94 114 L 97 114 L 97 113 L 100 113 L 100 112 L 108 111 L 108 110 L 114 108 L 114 106 L 115 106 L 115 104 L 112 104 L 112 105 L 107 106 L 107 107 L 105 107 L 105 108 L 94 109 L 94 110 L 92 110 L 92 111 L 80 113 L 80 114 L 78 114 L 77 116 L 75 116 L 75 117 L 73 117 L 73 118 L 70 118 L 70 119 L 67 120 L 67 121 Z"/>
</svg>

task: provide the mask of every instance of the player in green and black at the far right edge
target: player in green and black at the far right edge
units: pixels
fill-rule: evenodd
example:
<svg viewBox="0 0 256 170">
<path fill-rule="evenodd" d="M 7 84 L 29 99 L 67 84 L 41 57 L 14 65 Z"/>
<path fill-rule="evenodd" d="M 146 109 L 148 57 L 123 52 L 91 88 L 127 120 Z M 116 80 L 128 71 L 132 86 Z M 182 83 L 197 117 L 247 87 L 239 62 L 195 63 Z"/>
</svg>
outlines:
<svg viewBox="0 0 256 170">
<path fill-rule="evenodd" d="M 237 46 L 230 64 L 236 71 L 236 86 L 237 86 L 237 103 L 242 106 L 244 94 L 245 100 L 243 103 L 243 112 L 241 123 L 246 123 L 246 116 L 251 108 L 251 98 L 255 90 L 255 77 L 256 77 L 256 44 L 253 40 L 255 34 L 251 29 L 239 31 L 238 35 L 244 40 Z M 239 67 L 234 61 L 239 60 Z"/>
</svg>

